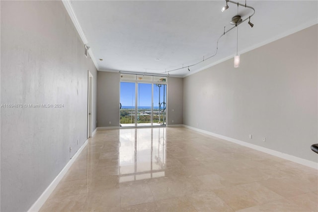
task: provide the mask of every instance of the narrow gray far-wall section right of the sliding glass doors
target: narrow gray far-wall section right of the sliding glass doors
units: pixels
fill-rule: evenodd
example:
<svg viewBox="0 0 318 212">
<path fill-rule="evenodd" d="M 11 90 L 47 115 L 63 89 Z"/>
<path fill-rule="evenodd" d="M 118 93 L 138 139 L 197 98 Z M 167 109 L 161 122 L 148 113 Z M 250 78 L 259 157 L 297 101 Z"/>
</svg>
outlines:
<svg viewBox="0 0 318 212">
<path fill-rule="evenodd" d="M 168 118 L 167 124 L 168 125 L 183 123 L 182 102 L 183 102 L 183 78 L 169 77 L 168 86 L 167 86 L 167 118 Z"/>
</svg>

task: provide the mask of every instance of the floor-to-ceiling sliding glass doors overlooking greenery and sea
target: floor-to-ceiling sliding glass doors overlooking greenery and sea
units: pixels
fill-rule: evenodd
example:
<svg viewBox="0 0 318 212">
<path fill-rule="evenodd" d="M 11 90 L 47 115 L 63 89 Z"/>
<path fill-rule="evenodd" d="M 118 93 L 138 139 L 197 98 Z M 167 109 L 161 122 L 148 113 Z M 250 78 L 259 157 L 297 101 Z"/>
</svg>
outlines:
<svg viewBox="0 0 318 212">
<path fill-rule="evenodd" d="M 121 74 L 120 126 L 166 126 L 166 77 Z"/>
</svg>

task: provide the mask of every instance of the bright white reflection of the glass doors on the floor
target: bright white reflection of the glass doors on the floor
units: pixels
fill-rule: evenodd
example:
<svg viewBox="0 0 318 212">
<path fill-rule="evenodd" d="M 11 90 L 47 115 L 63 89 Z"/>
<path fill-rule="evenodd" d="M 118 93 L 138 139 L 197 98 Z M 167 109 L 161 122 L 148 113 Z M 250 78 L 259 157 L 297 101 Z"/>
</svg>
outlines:
<svg viewBox="0 0 318 212">
<path fill-rule="evenodd" d="M 164 177 L 165 128 L 126 130 L 119 140 L 119 183 Z"/>
</svg>

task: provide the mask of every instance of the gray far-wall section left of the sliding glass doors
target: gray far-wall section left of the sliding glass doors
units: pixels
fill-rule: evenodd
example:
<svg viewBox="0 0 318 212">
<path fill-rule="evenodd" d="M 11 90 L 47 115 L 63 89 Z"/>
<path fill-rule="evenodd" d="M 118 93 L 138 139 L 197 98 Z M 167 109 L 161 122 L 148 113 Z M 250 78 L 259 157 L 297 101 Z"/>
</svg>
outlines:
<svg viewBox="0 0 318 212">
<path fill-rule="evenodd" d="M 97 126 L 119 127 L 120 74 L 97 73 Z"/>
</svg>

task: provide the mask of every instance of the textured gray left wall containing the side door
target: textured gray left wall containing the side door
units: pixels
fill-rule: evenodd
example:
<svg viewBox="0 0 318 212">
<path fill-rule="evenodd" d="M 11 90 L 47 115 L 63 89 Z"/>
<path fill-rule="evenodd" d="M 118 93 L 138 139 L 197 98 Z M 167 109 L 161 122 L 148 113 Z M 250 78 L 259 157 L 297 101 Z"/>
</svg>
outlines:
<svg viewBox="0 0 318 212">
<path fill-rule="evenodd" d="M 86 140 L 87 70 L 97 71 L 61 1 L 0 6 L 1 104 L 64 104 L 1 107 L 1 211 L 27 211 Z"/>
</svg>

